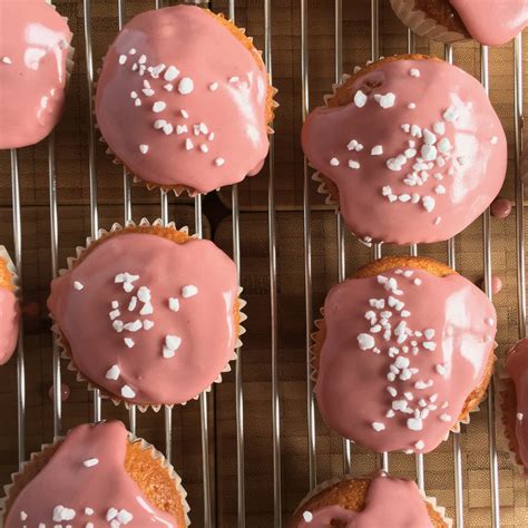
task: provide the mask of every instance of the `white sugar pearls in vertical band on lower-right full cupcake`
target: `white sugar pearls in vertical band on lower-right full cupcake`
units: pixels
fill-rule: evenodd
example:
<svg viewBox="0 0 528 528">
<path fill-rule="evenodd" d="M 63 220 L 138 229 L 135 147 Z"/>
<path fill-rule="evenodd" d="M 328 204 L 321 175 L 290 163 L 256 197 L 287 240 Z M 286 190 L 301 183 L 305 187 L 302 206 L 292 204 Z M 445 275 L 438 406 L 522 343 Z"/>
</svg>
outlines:
<svg viewBox="0 0 528 528">
<path fill-rule="evenodd" d="M 372 429 L 384 431 L 391 419 L 403 415 L 405 427 L 419 432 L 424 428 L 424 421 L 431 419 L 432 411 L 438 411 L 433 419 L 452 421 L 449 402 L 440 401 L 441 397 L 434 392 L 436 380 L 448 375 L 448 368 L 431 361 L 431 371 L 421 372 L 413 365 L 413 358 L 430 354 L 441 345 L 438 341 L 441 336 L 432 327 L 418 330 L 409 323 L 412 313 L 402 300 L 404 290 L 420 287 L 421 278 L 412 270 L 395 270 L 394 275 L 398 277 L 378 275 L 383 294 L 369 300 L 364 313 L 368 330 L 358 334 L 356 340 L 361 351 L 387 354 L 390 359 L 384 387 L 390 398 L 389 407 L 384 417 L 372 420 Z M 417 450 L 424 447 L 421 438 L 413 444 Z"/>
</svg>

